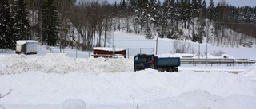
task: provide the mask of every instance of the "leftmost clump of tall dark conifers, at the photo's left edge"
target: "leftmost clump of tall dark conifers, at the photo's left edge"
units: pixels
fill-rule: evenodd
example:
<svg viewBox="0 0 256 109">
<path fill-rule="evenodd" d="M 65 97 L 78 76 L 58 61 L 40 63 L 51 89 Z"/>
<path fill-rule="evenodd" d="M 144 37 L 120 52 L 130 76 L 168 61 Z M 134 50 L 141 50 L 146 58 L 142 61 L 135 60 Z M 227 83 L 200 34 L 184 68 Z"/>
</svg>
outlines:
<svg viewBox="0 0 256 109">
<path fill-rule="evenodd" d="M 27 18 L 26 3 L 24 1 L 14 0 L 1 2 L 1 49 L 14 49 L 15 41 L 25 39 L 29 26 Z"/>
</svg>

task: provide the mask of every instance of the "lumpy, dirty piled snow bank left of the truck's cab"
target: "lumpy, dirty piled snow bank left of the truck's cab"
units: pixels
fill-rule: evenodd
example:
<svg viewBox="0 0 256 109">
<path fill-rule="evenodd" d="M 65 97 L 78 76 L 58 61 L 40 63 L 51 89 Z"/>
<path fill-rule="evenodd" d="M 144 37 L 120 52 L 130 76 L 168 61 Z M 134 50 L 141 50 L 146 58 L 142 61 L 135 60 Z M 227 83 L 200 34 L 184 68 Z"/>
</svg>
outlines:
<svg viewBox="0 0 256 109">
<path fill-rule="evenodd" d="M 45 56 L 0 55 L 0 74 L 28 71 L 46 73 L 67 72 L 126 72 L 133 70 L 133 59 L 70 58 L 64 53 L 47 53 Z"/>
</svg>

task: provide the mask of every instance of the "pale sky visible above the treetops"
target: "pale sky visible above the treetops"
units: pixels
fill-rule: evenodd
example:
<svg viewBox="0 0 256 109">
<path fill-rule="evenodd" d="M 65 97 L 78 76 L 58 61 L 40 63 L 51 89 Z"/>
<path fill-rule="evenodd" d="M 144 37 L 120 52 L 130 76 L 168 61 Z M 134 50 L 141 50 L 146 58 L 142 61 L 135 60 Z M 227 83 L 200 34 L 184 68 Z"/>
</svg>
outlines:
<svg viewBox="0 0 256 109">
<path fill-rule="evenodd" d="M 118 3 L 122 0 L 107 0 L 109 3 L 114 3 L 117 1 Z M 126 0 L 127 1 L 127 0 Z M 157 0 L 158 1 L 158 0 Z M 163 2 L 164 0 L 160 0 Z M 220 0 L 214 0 L 215 6 L 218 4 Z M 206 0 L 207 6 L 209 6 L 210 0 Z M 236 7 L 242 7 L 242 6 L 251 6 L 255 7 L 256 6 L 256 0 L 226 0 L 226 3 L 230 4 L 231 6 L 236 6 Z"/>
</svg>

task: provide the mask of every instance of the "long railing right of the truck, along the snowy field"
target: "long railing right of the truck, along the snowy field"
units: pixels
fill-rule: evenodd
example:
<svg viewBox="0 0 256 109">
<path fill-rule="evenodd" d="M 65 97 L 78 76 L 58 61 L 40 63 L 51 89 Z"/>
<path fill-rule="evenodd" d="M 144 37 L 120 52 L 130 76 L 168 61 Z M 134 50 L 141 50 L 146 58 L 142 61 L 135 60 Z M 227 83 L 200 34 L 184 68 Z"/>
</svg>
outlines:
<svg viewBox="0 0 256 109">
<path fill-rule="evenodd" d="M 235 64 L 242 64 L 244 66 L 255 64 L 255 60 L 247 60 L 247 59 L 194 59 L 194 58 L 182 58 L 182 64 L 193 64 L 196 66 L 197 64 L 219 64 L 219 65 L 227 65 L 234 66 Z"/>
</svg>

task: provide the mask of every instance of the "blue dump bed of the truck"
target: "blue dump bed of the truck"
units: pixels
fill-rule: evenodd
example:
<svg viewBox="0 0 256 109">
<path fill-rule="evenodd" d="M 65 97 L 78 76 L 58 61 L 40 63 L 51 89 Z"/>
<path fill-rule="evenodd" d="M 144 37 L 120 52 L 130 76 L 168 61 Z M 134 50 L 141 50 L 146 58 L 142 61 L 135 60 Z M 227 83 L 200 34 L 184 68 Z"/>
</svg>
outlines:
<svg viewBox="0 0 256 109">
<path fill-rule="evenodd" d="M 157 57 L 157 66 L 159 67 L 178 67 L 181 63 L 179 57 Z"/>
</svg>

